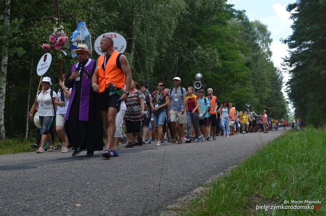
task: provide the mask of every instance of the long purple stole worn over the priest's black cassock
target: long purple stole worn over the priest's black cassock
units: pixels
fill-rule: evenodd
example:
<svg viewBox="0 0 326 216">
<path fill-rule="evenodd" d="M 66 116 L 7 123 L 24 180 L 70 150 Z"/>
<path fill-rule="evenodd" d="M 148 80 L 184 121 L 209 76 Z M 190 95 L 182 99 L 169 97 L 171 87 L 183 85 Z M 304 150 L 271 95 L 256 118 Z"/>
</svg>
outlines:
<svg viewBox="0 0 326 216">
<path fill-rule="evenodd" d="M 93 66 L 94 64 L 96 64 L 94 59 L 89 59 L 88 62 L 86 63 L 84 70 L 88 71 L 88 73 L 90 74 L 90 76 L 86 77 L 83 74 L 83 78 L 82 78 L 82 87 L 81 87 L 81 96 L 80 96 L 80 107 L 79 107 L 79 121 L 88 121 L 88 114 L 89 114 L 89 99 L 90 99 L 90 93 L 91 93 L 91 77 L 93 75 Z M 75 69 L 77 68 L 78 63 L 74 64 L 71 68 L 70 74 L 75 71 Z M 70 100 L 71 102 L 69 102 L 68 104 L 68 109 L 67 109 L 67 113 L 65 116 L 65 121 L 68 120 L 69 117 L 69 113 L 70 113 L 70 107 L 71 104 L 73 103 L 74 100 L 74 95 L 75 95 L 75 91 L 76 91 L 76 85 L 75 82 L 73 83 L 72 86 L 72 90 L 71 90 L 71 94 L 70 94 Z"/>
</svg>

